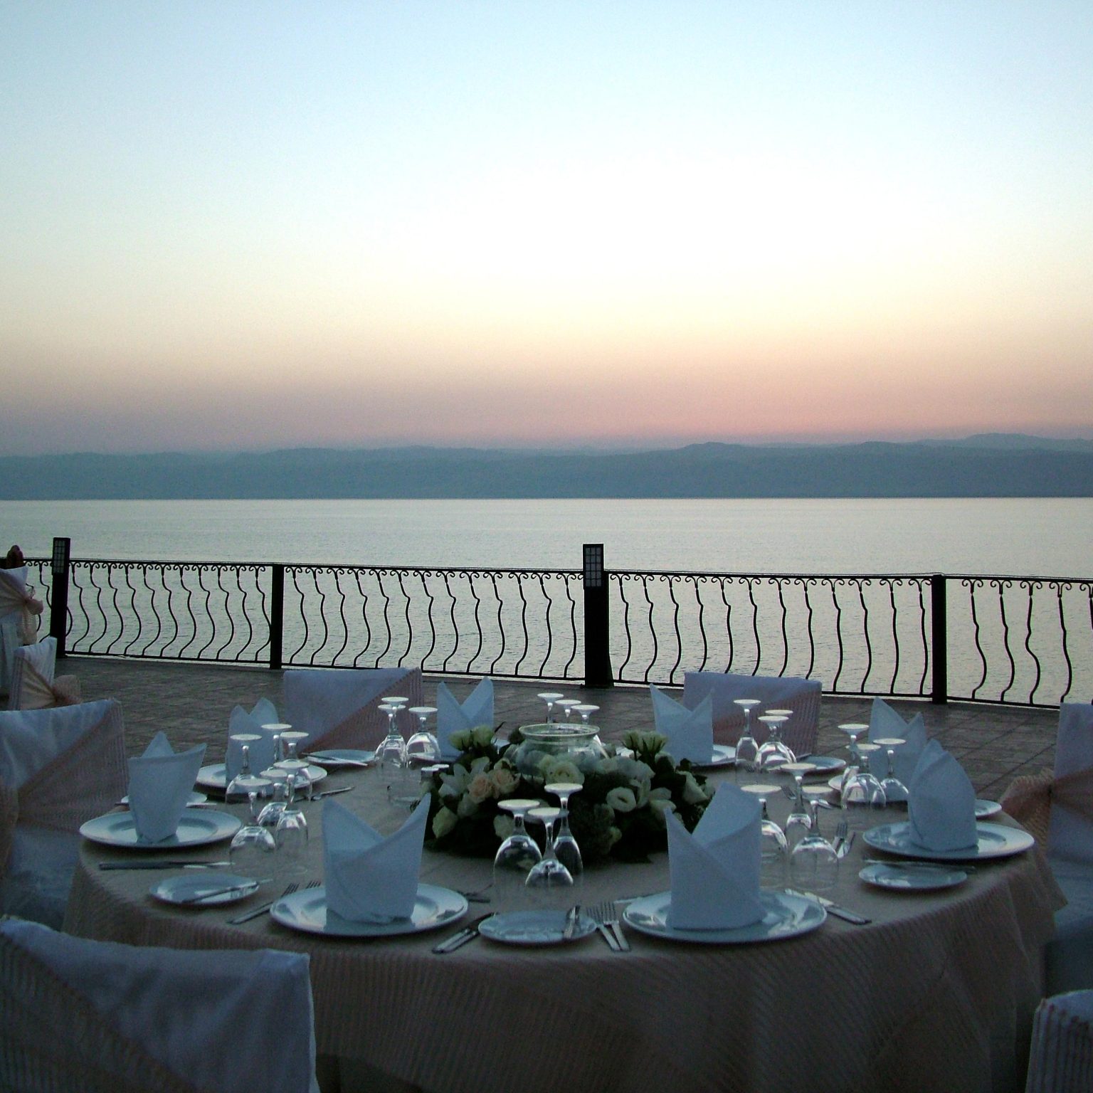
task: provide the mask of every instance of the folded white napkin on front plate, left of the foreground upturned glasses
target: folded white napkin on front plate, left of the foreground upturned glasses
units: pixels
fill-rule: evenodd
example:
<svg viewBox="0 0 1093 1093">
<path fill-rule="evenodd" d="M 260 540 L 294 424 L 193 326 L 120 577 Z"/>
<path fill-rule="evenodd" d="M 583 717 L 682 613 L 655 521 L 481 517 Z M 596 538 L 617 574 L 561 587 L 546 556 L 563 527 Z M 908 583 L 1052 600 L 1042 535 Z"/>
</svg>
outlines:
<svg viewBox="0 0 1093 1093">
<path fill-rule="evenodd" d="M 418 894 L 428 797 L 384 838 L 337 801 L 322 806 L 322 870 L 327 909 L 354 922 L 409 918 Z"/>
</svg>

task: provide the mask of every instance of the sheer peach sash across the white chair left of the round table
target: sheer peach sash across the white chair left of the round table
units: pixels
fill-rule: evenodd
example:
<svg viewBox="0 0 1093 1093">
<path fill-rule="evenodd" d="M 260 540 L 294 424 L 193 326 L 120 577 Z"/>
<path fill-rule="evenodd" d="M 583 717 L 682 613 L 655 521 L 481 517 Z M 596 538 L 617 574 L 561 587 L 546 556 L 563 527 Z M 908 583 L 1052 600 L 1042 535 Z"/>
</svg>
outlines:
<svg viewBox="0 0 1093 1093">
<path fill-rule="evenodd" d="M 0 878 L 16 824 L 74 833 L 109 811 L 125 794 L 126 781 L 121 707 L 111 703 L 102 720 L 17 789 L 0 784 Z"/>
</svg>

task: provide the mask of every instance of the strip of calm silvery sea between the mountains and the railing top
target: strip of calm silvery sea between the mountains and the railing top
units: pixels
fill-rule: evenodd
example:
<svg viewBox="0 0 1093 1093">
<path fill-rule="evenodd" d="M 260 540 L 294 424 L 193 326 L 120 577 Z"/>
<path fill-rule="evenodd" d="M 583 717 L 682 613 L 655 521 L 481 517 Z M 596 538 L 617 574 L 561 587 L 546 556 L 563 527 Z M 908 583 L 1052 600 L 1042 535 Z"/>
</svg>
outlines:
<svg viewBox="0 0 1093 1093">
<path fill-rule="evenodd" d="M 720 573 L 1093 575 L 1093 498 L 4 502 L 77 559 Z"/>
</svg>

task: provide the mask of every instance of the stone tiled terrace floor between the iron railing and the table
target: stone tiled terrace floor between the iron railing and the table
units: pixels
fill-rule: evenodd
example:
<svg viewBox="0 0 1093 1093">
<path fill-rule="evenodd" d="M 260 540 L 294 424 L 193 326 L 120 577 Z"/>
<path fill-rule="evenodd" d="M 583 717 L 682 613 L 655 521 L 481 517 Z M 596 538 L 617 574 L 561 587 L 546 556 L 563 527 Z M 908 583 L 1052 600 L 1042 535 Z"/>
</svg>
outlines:
<svg viewBox="0 0 1093 1093">
<path fill-rule="evenodd" d="M 248 709 L 266 696 L 281 708 L 281 672 L 263 668 L 223 665 L 186 665 L 154 660 L 113 660 L 102 657 L 67 657 L 59 673 L 74 672 L 83 696 L 118 698 L 126 720 L 131 754 L 140 753 L 152 736 L 163 729 L 172 743 L 189 747 L 207 743 L 208 761 L 223 757 L 227 718 L 235 705 Z M 426 678 L 425 697 L 431 702 L 436 679 Z M 459 696 L 473 681 L 449 681 Z M 507 726 L 540 721 L 545 707 L 537 693 L 564 691 L 568 696 L 600 706 L 596 720 L 604 736 L 627 729 L 651 729 L 653 708 L 646 687 L 616 686 L 586 690 L 569 684 L 495 681 L 494 713 Z M 825 695 L 820 707 L 818 751 L 842 754 L 846 738 L 836 728 L 843 721 L 869 719 L 870 700 Z M 893 702 L 905 717 L 921 713 L 931 737 L 963 763 L 980 797 L 999 798 L 1018 774 L 1050 767 L 1055 759 L 1055 709 L 1027 709 L 952 703 Z"/>
</svg>

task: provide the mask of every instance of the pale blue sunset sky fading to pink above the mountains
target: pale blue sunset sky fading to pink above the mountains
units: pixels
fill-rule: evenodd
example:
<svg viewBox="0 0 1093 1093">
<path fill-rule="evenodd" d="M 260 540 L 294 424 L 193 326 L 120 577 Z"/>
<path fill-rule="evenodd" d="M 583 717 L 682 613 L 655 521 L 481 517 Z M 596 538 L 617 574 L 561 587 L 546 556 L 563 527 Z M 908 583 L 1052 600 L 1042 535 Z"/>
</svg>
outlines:
<svg viewBox="0 0 1093 1093">
<path fill-rule="evenodd" d="M 1093 437 L 1089 0 L 0 0 L 0 454 Z"/>
</svg>

